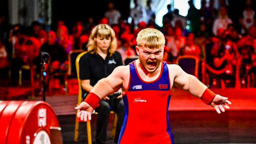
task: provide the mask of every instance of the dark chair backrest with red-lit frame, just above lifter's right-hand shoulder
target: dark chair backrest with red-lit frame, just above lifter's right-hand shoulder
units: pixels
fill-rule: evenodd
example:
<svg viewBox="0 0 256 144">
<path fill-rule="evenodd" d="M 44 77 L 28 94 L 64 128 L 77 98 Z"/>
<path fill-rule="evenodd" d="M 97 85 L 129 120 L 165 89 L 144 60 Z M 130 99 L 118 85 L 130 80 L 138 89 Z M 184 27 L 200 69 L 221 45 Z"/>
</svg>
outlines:
<svg viewBox="0 0 256 144">
<path fill-rule="evenodd" d="M 177 58 L 177 64 L 188 74 L 198 78 L 199 58 L 191 55 L 183 55 Z"/>
</svg>

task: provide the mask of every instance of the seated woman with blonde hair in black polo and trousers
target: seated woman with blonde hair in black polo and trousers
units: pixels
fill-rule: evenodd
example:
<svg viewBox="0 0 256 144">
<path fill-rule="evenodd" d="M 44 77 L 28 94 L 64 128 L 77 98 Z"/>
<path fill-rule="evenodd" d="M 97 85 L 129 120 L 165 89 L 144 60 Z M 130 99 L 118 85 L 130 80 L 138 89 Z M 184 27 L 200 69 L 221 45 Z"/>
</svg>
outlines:
<svg viewBox="0 0 256 144">
<path fill-rule="evenodd" d="M 79 76 L 85 92 L 89 93 L 100 79 L 107 77 L 116 67 L 123 65 L 122 57 L 116 51 L 116 47 L 115 32 L 110 26 L 99 24 L 92 29 L 87 44 L 87 53 L 79 60 Z M 121 93 L 114 93 L 100 100 L 100 106 L 95 109 L 98 112 L 96 143 L 107 141 L 110 106 L 118 116 L 114 140 L 114 142 L 118 142 L 119 133 L 124 121 L 124 102 L 122 97 Z"/>
</svg>

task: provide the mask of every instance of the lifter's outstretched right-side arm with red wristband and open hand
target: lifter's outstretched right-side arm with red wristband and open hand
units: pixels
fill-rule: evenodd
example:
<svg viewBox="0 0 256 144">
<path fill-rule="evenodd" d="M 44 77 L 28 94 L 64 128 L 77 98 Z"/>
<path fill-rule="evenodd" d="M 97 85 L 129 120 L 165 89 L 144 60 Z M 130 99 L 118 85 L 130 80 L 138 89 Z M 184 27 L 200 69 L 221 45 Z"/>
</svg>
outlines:
<svg viewBox="0 0 256 144">
<path fill-rule="evenodd" d="M 180 66 L 172 65 L 175 69 L 175 76 L 173 85 L 186 90 L 199 97 L 205 104 L 211 105 L 217 113 L 225 112 L 225 108 L 228 109 L 231 102 L 228 98 L 222 97 L 209 90 L 202 82 L 200 82 L 195 76 L 189 75 L 184 72 Z"/>
</svg>

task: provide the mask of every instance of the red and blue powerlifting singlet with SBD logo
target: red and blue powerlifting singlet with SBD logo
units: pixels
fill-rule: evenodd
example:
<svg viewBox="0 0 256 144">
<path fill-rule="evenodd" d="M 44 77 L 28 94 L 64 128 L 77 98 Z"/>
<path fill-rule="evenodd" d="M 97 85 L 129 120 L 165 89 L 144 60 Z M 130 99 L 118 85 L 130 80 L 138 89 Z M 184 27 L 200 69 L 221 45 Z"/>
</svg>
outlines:
<svg viewBox="0 0 256 144">
<path fill-rule="evenodd" d="M 159 77 L 146 82 L 135 61 L 130 63 L 130 82 L 123 95 L 125 117 L 119 144 L 173 144 L 169 126 L 170 79 L 166 62 Z"/>
</svg>

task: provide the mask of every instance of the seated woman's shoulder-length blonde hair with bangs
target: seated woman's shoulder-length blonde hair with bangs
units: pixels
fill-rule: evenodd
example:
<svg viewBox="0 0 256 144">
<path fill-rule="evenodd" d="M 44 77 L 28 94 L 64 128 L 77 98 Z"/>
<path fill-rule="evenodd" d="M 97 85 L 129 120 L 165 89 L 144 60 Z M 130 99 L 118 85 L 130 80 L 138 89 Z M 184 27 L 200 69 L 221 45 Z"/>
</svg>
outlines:
<svg viewBox="0 0 256 144">
<path fill-rule="evenodd" d="M 87 51 L 97 54 L 97 42 L 94 40 L 97 36 L 102 38 L 111 38 L 110 46 L 108 48 L 109 55 L 116 51 L 117 41 L 114 30 L 107 24 L 99 24 L 92 29 L 91 35 L 89 36 L 88 44 L 86 45 Z"/>
</svg>

